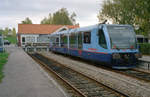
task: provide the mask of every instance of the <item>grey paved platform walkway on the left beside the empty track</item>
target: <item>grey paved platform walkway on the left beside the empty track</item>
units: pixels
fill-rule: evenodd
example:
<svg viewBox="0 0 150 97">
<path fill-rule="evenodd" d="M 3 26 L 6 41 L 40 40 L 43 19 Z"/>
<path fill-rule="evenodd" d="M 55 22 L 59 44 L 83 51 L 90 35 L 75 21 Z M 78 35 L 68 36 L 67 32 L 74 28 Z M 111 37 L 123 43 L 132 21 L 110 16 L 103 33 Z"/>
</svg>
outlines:
<svg viewBox="0 0 150 97">
<path fill-rule="evenodd" d="M 0 83 L 0 97 L 66 97 L 67 95 L 21 48 L 6 47 L 9 52 Z"/>
</svg>

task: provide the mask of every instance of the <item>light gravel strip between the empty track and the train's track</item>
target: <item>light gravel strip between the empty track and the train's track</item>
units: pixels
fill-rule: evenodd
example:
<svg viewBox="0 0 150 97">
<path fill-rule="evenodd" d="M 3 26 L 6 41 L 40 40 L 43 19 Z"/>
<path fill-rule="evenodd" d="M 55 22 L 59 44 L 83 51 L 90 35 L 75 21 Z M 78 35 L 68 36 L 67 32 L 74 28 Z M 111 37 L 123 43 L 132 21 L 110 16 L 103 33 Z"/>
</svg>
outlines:
<svg viewBox="0 0 150 97">
<path fill-rule="evenodd" d="M 67 67 L 75 69 L 78 72 L 84 73 L 85 75 L 90 76 L 128 96 L 150 97 L 150 83 L 139 81 L 131 77 L 104 70 L 51 52 L 41 52 L 41 54 L 64 64 Z"/>
</svg>

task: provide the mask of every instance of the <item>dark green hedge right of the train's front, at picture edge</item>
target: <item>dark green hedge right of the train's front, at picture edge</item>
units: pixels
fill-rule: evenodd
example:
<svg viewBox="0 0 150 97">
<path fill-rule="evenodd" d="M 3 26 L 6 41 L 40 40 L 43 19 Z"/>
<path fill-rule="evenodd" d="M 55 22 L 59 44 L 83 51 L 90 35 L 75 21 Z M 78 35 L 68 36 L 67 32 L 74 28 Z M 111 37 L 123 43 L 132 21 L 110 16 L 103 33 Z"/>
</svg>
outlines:
<svg viewBox="0 0 150 97">
<path fill-rule="evenodd" d="M 150 55 L 150 44 L 149 43 L 140 43 L 139 50 L 142 54 Z"/>
</svg>

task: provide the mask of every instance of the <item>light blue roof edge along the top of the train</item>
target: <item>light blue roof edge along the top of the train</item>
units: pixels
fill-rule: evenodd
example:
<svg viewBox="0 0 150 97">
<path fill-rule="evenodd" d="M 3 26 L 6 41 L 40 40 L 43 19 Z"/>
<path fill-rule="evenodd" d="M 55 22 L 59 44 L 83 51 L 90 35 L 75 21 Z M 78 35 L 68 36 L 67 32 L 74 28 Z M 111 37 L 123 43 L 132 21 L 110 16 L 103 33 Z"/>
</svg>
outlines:
<svg viewBox="0 0 150 97">
<path fill-rule="evenodd" d="M 51 35 L 56 35 L 56 34 L 68 34 L 68 33 L 73 33 L 73 32 L 83 32 L 83 31 L 90 31 L 94 28 L 100 28 L 102 25 L 112 25 L 112 26 L 131 26 L 131 25 L 122 25 L 122 24 L 96 24 L 92 26 L 86 26 L 86 27 L 80 27 L 80 28 L 75 28 L 75 29 L 69 29 L 69 30 L 64 30 L 61 32 L 54 32 Z"/>
</svg>

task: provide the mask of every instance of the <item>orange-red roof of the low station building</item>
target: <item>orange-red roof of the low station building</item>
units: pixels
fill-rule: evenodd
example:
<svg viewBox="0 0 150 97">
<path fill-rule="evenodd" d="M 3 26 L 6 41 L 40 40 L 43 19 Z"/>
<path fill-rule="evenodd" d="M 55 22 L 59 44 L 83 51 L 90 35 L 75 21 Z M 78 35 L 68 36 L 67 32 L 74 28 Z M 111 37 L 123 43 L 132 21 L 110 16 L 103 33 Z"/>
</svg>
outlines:
<svg viewBox="0 0 150 97">
<path fill-rule="evenodd" d="M 50 34 L 62 27 L 78 28 L 79 25 L 18 24 L 18 34 Z"/>
</svg>

